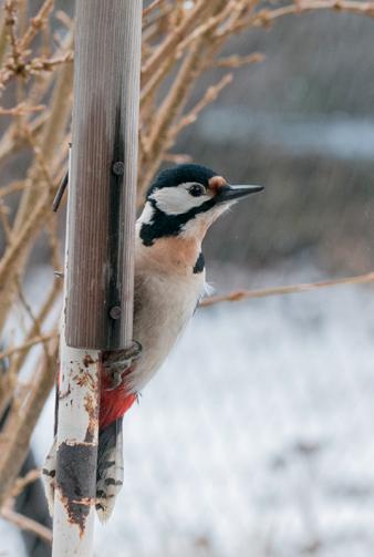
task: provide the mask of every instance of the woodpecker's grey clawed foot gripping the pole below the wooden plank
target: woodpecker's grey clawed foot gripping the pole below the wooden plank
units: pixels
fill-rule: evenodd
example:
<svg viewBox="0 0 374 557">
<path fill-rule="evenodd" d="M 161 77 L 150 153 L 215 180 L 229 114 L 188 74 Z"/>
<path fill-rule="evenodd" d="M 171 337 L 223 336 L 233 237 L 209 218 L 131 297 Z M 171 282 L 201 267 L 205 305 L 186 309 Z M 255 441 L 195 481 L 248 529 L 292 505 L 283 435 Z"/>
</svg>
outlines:
<svg viewBox="0 0 374 557">
<path fill-rule="evenodd" d="M 103 352 L 103 365 L 111 378 L 108 391 L 117 389 L 128 370 L 138 360 L 142 353 L 142 344 L 133 340 L 131 345 L 123 350 L 110 350 Z"/>
</svg>

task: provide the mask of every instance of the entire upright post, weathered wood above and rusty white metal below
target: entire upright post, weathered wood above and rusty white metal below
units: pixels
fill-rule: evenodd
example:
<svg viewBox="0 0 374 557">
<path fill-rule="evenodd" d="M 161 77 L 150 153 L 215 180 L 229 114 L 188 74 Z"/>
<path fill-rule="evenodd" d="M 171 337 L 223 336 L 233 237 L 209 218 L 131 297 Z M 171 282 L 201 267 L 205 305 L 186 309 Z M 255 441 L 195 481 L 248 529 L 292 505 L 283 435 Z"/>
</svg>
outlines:
<svg viewBox="0 0 374 557">
<path fill-rule="evenodd" d="M 132 340 L 142 0 L 76 0 L 53 557 L 91 557 L 98 361 Z"/>
</svg>

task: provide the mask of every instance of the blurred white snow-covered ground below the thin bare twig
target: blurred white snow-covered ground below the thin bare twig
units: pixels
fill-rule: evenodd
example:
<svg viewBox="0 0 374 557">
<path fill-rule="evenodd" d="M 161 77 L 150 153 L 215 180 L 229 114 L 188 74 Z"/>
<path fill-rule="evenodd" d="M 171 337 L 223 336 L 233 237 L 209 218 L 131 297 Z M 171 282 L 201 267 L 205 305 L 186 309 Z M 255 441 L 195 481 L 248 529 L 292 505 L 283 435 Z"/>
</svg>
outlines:
<svg viewBox="0 0 374 557">
<path fill-rule="evenodd" d="M 199 310 L 125 420 L 96 555 L 372 557 L 373 338 L 367 287 Z M 40 458 L 51 430 L 52 401 Z"/>
</svg>

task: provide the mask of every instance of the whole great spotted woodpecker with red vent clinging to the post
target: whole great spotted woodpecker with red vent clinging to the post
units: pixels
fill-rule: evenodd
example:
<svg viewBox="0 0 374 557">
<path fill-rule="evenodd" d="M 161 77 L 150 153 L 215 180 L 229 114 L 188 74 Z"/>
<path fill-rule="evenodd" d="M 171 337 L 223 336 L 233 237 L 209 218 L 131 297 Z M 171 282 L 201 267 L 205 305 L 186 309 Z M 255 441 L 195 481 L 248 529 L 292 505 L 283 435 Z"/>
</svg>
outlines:
<svg viewBox="0 0 374 557">
<path fill-rule="evenodd" d="M 233 203 L 261 186 L 232 186 L 200 165 L 163 171 L 136 223 L 134 339 L 103 353 L 96 509 L 105 520 L 123 484 L 122 419 L 170 352 L 205 292 L 201 243 Z M 44 467 L 53 493 L 55 448 Z M 50 505 L 51 506 L 51 505 Z"/>
</svg>

